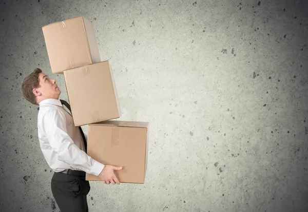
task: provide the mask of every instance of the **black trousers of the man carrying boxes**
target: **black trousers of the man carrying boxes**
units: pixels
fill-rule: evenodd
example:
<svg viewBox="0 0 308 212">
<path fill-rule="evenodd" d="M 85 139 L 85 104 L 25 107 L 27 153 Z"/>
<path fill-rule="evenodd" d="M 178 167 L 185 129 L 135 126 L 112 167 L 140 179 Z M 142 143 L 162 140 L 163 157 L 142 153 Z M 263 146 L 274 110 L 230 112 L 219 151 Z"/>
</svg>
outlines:
<svg viewBox="0 0 308 212">
<path fill-rule="evenodd" d="M 85 176 L 54 173 L 51 179 L 51 192 L 61 212 L 89 211 L 87 194 L 90 183 Z"/>
</svg>

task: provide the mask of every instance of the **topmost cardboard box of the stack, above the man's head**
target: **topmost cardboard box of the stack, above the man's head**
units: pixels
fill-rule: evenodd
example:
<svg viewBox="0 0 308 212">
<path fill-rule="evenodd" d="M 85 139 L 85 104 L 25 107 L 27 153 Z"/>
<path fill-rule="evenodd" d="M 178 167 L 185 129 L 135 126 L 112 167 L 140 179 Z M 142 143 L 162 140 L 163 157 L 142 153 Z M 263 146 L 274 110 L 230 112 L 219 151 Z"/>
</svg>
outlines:
<svg viewBox="0 0 308 212">
<path fill-rule="evenodd" d="M 52 73 L 101 61 L 93 24 L 86 18 L 75 17 L 42 29 Z"/>
</svg>

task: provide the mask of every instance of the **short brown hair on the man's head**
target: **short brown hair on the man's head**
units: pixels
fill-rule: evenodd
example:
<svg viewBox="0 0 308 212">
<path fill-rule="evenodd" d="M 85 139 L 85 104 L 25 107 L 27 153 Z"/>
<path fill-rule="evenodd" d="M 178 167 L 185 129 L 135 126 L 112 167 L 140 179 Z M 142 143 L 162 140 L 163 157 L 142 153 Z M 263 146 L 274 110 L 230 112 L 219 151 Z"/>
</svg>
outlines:
<svg viewBox="0 0 308 212">
<path fill-rule="evenodd" d="M 32 92 L 33 89 L 40 87 L 40 79 L 38 79 L 38 74 L 42 73 L 41 69 L 34 69 L 34 71 L 24 78 L 22 84 L 22 92 L 25 99 L 30 101 L 32 104 L 37 104 L 36 96 Z"/>
</svg>

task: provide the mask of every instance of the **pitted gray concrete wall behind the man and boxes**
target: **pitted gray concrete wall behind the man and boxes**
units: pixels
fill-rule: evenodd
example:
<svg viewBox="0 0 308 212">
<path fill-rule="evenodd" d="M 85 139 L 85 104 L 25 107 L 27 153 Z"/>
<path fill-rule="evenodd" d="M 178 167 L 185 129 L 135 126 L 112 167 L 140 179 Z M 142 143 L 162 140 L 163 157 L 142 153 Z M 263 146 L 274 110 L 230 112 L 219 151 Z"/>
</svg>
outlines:
<svg viewBox="0 0 308 212">
<path fill-rule="evenodd" d="M 0 211 L 59 211 L 21 82 L 39 67 L 67 100 L 41 28 L 80 15 L 120 120 L 151 123 L 145 184 L 90 182 L 90 211 L 308 210 L 306 1 L 0 2 Z"/>
</svg>

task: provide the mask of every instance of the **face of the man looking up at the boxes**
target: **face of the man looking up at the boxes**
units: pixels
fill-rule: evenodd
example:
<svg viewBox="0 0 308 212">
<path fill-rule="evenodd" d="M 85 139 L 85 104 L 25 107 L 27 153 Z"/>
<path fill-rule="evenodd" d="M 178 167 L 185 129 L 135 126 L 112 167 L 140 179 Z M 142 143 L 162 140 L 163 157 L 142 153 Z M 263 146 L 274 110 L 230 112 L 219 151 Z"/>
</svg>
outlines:
<svg viewBox="0 0 308 212">
<path fill-rule="evenodd" d="M 40 73 L 38 75 L 38 79 L 40 80 L 40 88 L 33 89 L 33 93 L 36 96 L 40 96 L 43 98 L 59 98 L 61 91 L 57 87 L 54 79 L 50 79 L 44 73 Z"/>
</svg>

